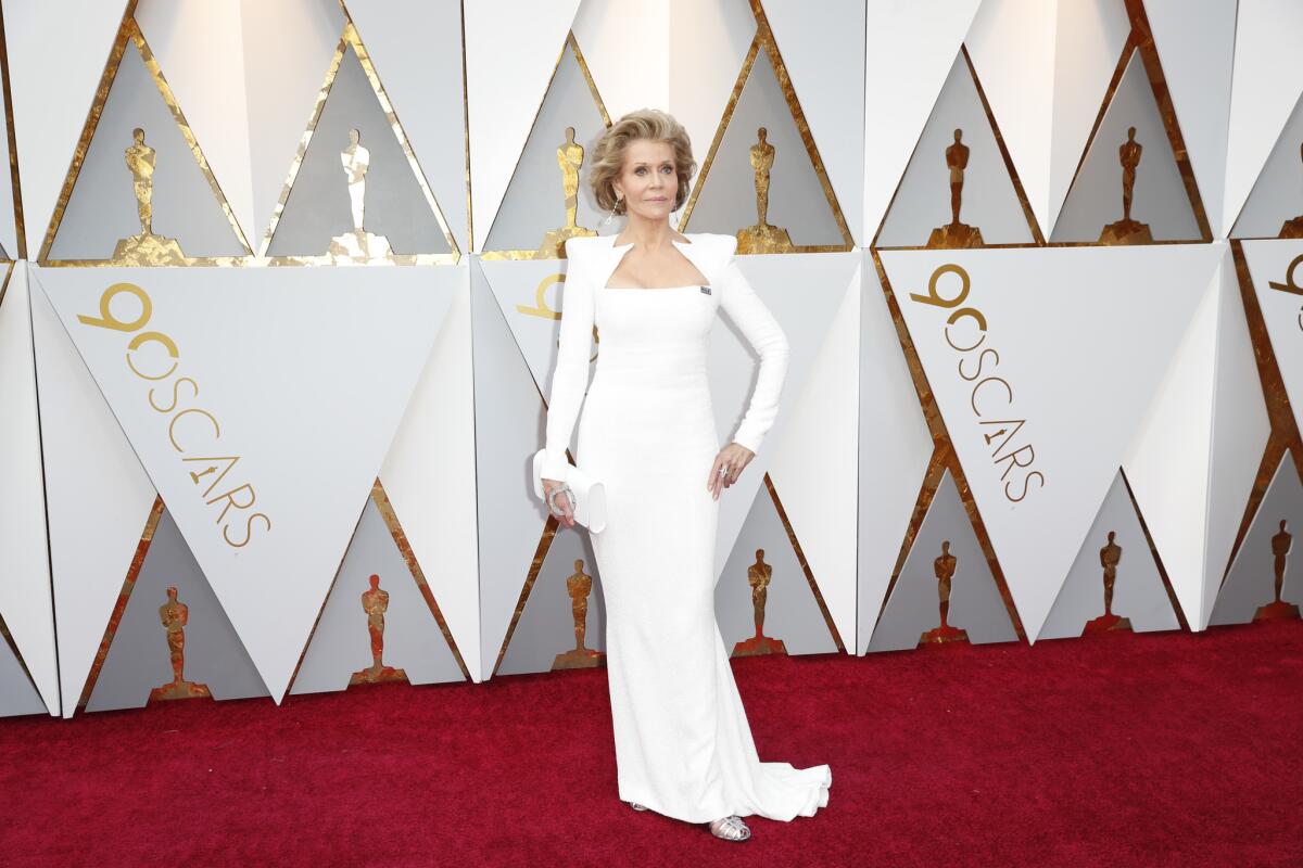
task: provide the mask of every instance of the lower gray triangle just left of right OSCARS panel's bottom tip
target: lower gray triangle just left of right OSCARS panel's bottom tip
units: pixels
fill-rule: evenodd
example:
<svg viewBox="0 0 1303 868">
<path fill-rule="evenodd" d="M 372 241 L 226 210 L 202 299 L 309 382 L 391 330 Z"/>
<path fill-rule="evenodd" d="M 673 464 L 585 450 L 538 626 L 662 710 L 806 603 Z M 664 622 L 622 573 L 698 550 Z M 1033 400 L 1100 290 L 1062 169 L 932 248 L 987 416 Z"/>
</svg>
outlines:
<svg viewBox="0 0 1303 868">
<path fill-rule="evenodd" d="M 950 554 L 955 557 L 947 613 L 950 626 L 966 630 L 975 644 L 1018 639 L 986 556 L 959 500 L 959 489 L 946 471 L 887 597 L 882 619 L 873 630 L 870 652 L 913 648 L 924 632 L 941 625 L 934 561 L 945 541 L 950 543 Z M 861 622 L 861 630 L 865 626 Z"/>
</svg>

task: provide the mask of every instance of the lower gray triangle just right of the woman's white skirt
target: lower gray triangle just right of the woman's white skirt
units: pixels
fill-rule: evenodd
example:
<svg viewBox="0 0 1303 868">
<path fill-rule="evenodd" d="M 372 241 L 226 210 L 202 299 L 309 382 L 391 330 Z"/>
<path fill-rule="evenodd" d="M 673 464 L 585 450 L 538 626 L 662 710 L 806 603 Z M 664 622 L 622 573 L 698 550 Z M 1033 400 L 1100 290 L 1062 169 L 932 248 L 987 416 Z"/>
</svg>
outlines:
<svg viewBox="0 0 1303 868">
<path fill-rule="evenodd" d="M 732 554 L 715 583 L 715 621 L 724 648 L 732 653 L 734 645 L 756 635 L 747 571 L 756 563 L 757 549 L 764 550 L 765 563 L 773 567 L 766 588 L 764 635 L 780 640 L 790 655 L 835 652 L 837 643 L 766 485 L 756 492 Z"/>
</svg>

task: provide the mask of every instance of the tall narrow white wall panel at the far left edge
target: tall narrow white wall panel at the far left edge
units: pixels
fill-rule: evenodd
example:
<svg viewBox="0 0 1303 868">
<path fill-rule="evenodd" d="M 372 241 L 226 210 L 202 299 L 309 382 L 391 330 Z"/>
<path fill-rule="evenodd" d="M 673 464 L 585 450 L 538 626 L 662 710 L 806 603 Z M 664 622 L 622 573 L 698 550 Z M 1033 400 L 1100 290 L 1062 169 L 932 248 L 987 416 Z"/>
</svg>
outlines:
<svg viewBox="0 0 1303 868">
<path fill-rule="evenodd" d="M 40 420 L 27 301 L 27 263 L 12 265 L 0 301 L 0 618 L 51 714 L 59 714 L 59 666 L 46 539 Z"/>
</svg>

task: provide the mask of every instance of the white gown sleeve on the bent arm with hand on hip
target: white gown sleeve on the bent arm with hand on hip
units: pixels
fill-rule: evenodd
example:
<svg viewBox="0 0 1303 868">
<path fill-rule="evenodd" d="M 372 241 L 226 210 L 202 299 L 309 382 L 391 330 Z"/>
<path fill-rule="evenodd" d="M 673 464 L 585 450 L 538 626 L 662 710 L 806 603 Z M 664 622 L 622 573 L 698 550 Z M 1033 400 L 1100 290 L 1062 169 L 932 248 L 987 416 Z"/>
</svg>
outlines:
<svg viewBox="0 0 1303 868">
<path fill-rule="evenodd" d="M 756 390 L 752 392 L 747 414 L 737 426 L 732 441 L 752 452 L 760 452 L 765 433 L 778 418 L 778 398 L 783 392 L 787 360 L 791 355 L 787 334 L 747 282 L 736 260 L 728 263 L 718 286 L 719 306 L 760 355 Z"/>
</svg>

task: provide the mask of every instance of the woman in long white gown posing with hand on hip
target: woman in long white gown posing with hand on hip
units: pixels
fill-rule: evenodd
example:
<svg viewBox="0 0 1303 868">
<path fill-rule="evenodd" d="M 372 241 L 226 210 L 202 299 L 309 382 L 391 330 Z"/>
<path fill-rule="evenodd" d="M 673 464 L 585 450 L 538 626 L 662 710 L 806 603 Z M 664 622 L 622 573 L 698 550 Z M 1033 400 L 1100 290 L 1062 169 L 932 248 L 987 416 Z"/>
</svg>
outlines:
<svg viewBox="0 0 1303 868">
<path fill-rule="evenodd" d="M 573 527 L 566 450 L 584 403 L 577 463 L 607 493 L 607 523 L 592 540 L 620 798 L 745 841 L 741 817 L 812 816 L 827 804 L 833 776 L 827 765 L 758 760 L 715 623 L 719 495 L 774 423 L 788 351 L 734 263 L 736 239 L 670 228 L 694 168 L 683 126 L 658 111 L 624 116 L 597 144 L 589 182 L 601 207 L 628 224 L 615 238 L 566 245 L 542 481 L 552 514 Z M 761 358 L 751 405 L 723 449 L 706 375 L 721 307 Z M 594 324 L 601 353 L 585 403 Z"/>
</svg>

